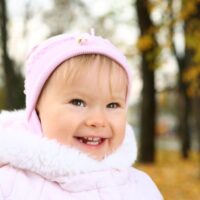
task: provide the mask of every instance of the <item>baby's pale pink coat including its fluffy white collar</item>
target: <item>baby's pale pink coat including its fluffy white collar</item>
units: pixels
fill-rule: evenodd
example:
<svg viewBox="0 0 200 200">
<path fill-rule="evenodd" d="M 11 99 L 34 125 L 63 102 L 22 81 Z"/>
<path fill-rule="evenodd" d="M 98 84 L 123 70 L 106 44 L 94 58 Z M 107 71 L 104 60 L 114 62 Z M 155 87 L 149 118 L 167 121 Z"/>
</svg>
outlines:
<svg viewBox="0 0 200 200">
<path fill-rule="evenodd" d="M 31 133 L 24 111 L 0 115 L 0 200 L 162 200 L 131 167 L 136 144 L 127 126 L 121 147 L 103 161 Z"/>
</svg>

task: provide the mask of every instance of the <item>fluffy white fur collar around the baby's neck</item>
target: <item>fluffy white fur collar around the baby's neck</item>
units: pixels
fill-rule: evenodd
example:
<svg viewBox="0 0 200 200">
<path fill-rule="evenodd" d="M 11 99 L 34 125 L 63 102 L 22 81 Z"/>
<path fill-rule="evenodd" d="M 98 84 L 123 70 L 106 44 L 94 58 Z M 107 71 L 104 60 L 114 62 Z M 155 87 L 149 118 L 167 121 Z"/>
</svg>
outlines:
<svg viewBox="0 0 200 200">
<path fill-rule="evenodd" d="M 130 167 L 137 155 L 136 141 L 129 125 L 123 144 L 102 161 L 90 158 L 77 149 L 28 131 L 25 112 L 0 115 L 0 165 L 37 173 L 45 178 L 76 175 L 84 172 Z"/>
</svg>

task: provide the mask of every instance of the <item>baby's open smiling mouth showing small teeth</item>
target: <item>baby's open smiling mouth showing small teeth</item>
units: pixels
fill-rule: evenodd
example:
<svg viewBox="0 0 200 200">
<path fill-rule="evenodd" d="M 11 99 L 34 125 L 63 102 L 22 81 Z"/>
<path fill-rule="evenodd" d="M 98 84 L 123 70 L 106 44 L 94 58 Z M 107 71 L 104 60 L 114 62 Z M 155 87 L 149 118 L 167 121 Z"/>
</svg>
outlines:
<svg viewBox="0 0 200 200">
<path fill-rule="evenodd" d="M 91 145 L 91 146 L 98 146 L 103 144 L 106 138 L 101 137 L 75 137 L 80 143 Z"/>
</svg>

